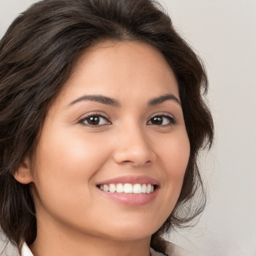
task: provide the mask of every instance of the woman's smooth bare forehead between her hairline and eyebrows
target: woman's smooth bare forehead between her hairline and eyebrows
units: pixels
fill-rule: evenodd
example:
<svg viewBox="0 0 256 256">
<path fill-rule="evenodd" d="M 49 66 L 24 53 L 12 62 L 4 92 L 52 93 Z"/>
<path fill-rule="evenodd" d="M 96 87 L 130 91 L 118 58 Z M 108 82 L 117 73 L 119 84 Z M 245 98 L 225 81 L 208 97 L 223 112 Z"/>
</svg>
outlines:
<svg viewBox="0 0 256 256">
<path fill-rule="evenodd" d="M 137 41 L 105 41 L 80 55 L 60 94 L 70 100 L 84 93 L 120 98 L 131 91 L 178 97 L 174 73 L 157 49 Z"/>
</svg>

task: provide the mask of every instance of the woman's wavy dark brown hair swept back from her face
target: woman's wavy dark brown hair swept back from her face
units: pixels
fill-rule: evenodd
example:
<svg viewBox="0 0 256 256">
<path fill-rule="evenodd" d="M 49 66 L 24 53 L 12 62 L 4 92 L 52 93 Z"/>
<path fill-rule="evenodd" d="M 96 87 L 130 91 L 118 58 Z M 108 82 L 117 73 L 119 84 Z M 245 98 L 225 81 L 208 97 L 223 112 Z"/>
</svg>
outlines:
<svg viewBox="0 0 256 256">
<path fill-rule="evenodd" d="M 80 53 L 109 39 L 154 46 L 178 81 L 190 157 L 176 206 L 152 235 L 151 246 L 163 252 L 161 235 L 186 225 L 204 208 L 196 159 L 213 138 L 202 98 L 207 77 L 162 7 L 153 0 L 42 0 L 21 13 L 0 41 L 0 226 L 19 252 L 23 240 L 31 244 L 36 237 L 36 216 L 30 185 L 17 182 L 13 173 L 36 146 L 47 108 Z"/>
</svg>

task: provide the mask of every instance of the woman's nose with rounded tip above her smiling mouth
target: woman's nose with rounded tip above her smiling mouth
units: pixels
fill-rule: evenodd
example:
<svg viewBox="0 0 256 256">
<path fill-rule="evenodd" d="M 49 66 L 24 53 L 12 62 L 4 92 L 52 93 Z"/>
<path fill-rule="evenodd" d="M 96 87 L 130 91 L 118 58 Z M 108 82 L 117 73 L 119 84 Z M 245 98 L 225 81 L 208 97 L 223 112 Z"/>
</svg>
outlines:
<svg viewBox="0 0 256 256">
<path fill-rule="evenodd" d="M 122 129 L 116 144 L 113 159 L 118 164 L 129 163 L 133 166 L 141 166 L 156 159 L 147 135 L 139 127 Z"/>
</svg>

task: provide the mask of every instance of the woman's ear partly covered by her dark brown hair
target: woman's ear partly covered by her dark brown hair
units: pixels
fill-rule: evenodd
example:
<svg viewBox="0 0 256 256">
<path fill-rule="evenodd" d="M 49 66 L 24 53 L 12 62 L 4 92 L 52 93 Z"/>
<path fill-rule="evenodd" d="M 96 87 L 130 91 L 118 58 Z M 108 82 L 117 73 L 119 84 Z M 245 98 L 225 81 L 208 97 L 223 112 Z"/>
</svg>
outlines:
<svg viewBox="0 0 256 256">
<path fill-rule="evenodd" d="M 13 175 L 22 184 L 28 184 L 33 181 L 29 162 L 29 158 L 26 156 Z"/>
</svg>

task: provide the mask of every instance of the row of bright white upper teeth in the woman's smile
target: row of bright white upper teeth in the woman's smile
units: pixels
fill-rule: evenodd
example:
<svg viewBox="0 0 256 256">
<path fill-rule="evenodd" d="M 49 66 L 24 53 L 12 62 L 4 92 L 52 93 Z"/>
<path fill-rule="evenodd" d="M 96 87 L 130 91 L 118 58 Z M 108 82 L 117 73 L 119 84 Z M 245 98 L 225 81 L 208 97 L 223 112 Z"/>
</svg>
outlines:
<svg viewBox="0 0 256 256">
<path fill-rule="evenodd" d="M 117 192 L 117 193 L 151 193 L 154 190 L 154 186 L 151 184 L 104 184 L 100 185 L 99 188 L 108 192 Z"/>
</svg>

